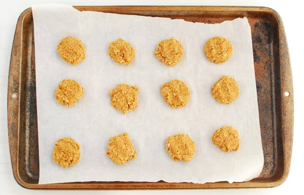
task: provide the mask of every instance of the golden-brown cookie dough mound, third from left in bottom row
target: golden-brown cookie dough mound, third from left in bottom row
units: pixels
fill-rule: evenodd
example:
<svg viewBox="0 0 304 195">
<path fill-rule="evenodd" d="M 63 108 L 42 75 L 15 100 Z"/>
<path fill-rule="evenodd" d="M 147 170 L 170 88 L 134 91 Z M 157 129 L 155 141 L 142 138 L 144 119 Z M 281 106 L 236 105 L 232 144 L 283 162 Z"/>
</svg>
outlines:
<svg viewBox="0 0 304 195">
<path fill-rule="evenodd" d="M 177 134 L 167 139 L 166 149 L 172 160 L 189 162 L 195 153 L 195 144 L 188 135 Z"/>
</svg>

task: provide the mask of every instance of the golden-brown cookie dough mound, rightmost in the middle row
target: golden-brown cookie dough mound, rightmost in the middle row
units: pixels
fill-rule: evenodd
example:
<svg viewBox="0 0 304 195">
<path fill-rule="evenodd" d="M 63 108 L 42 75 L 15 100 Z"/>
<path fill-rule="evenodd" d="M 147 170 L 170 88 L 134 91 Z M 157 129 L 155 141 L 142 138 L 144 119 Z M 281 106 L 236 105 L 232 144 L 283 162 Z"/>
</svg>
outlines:
<svg viewBox="0 0 304 195">
<path fill-rule="evenodd" d="M 222 104 L 230 104 L 240 95 L 237 82 L 229 76 L 221 76 L 211 88 L 212 96 Z"/>
</svg>

